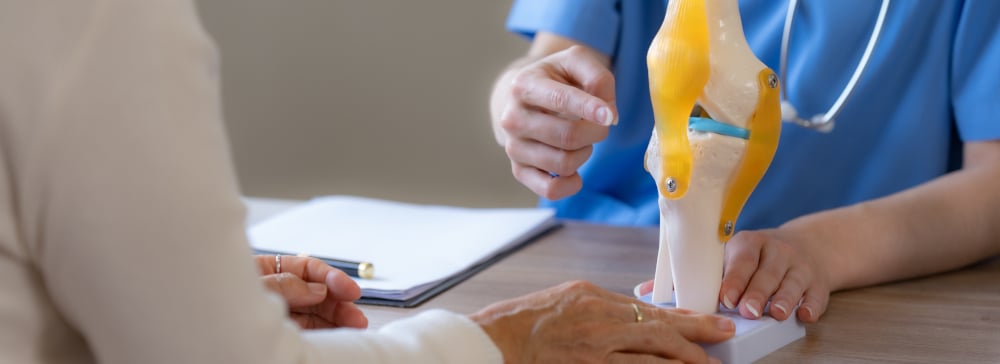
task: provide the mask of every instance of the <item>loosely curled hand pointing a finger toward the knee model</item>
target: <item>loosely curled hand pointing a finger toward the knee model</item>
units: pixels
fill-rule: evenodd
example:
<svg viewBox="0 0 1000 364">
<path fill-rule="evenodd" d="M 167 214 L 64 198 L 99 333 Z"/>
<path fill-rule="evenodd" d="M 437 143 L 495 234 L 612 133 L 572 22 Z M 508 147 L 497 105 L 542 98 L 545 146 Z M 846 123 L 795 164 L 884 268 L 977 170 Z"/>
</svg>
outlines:
<svg viewBox="0 0 1000 364">
<path fill-rule="evenodd" d="M 614 76 L 601 57 L 606 58 L 570 46 L 521 59 L 494 87 L 497 142 L 510 158 L 514 177 L 541 197 L 556 200 L 579 191 L 583 181 L 577 169 L 617 122 Z"/>
</svg>

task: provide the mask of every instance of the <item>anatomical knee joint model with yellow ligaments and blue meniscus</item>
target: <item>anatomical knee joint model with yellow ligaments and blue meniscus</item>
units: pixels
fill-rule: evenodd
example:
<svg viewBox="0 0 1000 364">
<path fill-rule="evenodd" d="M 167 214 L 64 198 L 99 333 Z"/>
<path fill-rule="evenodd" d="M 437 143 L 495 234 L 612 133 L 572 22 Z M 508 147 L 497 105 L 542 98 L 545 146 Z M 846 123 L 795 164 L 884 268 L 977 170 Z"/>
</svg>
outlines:
<svg viewBox="0 0 1000 364">
<path fill-rule="evenodd" d="M 652 300 L 676 294 L 677 307 L 716 312 L 723 244 L 778 146 L 778 77 L 750 51 L 737 0 L 670 1 L 647 62 L 656 127 L 645 163 L 660 206 Z"/>
</svg>

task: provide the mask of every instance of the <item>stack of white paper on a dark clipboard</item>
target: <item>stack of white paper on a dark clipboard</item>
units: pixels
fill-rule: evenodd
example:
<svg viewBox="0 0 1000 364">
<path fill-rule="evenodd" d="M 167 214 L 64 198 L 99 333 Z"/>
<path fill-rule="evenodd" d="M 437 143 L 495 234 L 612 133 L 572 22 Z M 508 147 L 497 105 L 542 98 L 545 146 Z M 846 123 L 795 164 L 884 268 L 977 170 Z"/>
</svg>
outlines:
<svg viewBox="0 0 1000 364">
<path fill-rule="evenodd" d="M 474 209 L 328 196 L 249 229 L 255 249 L 371 262 L 362 303 L 414 306 L 556 226 L 550 209 Z"/>
</svg>

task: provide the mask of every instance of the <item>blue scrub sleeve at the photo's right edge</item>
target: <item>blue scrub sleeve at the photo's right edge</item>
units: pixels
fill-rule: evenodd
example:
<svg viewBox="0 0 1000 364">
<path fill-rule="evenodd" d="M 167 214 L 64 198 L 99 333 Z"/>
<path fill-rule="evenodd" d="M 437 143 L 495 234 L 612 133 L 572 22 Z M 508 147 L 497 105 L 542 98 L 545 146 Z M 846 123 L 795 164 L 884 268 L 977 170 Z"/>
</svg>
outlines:
<svg viewBox="0 0 1000 364">
<path fill-rule="evenodd" d="M 952 49 L 952 107 L 963 141 L 1000 139 L 1000 1 L 966 1 Z"/>
</svg>

